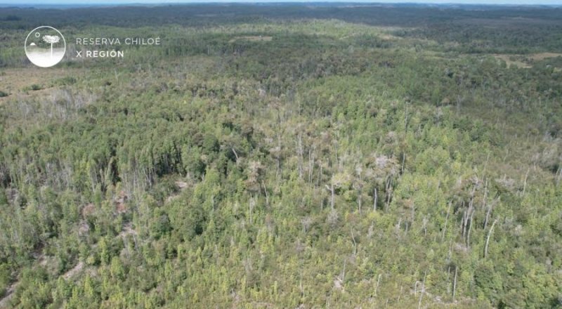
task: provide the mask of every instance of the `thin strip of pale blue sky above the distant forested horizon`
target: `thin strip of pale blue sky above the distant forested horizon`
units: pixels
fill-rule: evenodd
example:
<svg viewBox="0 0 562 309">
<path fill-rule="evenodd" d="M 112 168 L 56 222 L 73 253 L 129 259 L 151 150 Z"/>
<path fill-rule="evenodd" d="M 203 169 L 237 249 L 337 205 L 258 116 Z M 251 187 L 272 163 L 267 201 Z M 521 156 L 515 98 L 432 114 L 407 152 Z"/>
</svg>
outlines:
<svg viewBox="0 0 562 309">
<path fill-rule="evenodd" d="M 521 4 L 521 5 L 561 5 L 562 0 L 0 0 L 0 4 L 178 4 L 204 2 L 384 2 L 384 3 L 425 3 L 425 4 Z"/>
</svg>

